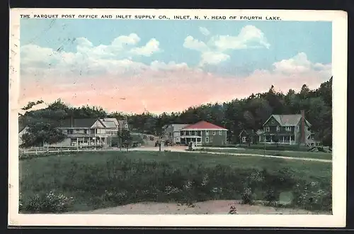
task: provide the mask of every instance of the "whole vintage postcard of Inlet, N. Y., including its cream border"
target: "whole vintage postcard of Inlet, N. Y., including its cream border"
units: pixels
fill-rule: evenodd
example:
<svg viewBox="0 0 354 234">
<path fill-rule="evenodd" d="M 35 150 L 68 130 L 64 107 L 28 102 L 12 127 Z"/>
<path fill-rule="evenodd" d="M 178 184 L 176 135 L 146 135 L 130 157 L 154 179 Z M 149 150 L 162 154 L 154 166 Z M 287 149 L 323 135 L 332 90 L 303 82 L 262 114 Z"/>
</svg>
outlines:
<svg viewBox="0 0 354 234">
<path fill-rule="evenodd" d="M 346 12 L 10 23 L 10 226 L 346 225 Z"/>
</svg>

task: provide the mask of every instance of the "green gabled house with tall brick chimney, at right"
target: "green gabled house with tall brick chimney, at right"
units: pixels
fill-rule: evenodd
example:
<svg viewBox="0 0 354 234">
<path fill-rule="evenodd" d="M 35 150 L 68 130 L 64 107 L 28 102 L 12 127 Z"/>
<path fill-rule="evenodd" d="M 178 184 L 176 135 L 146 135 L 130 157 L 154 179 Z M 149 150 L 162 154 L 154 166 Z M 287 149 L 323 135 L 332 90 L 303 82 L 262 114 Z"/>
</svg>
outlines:
<svg viewBox="0 0 354 234">
<path fill-rule="evenodd" d="M 311 123 L 301 114 L 272 115 L 263 124 L 263 133 L 259 134 L 260 143 L 287 145 L 317 145 L 314 140 Z"/>
</svg>

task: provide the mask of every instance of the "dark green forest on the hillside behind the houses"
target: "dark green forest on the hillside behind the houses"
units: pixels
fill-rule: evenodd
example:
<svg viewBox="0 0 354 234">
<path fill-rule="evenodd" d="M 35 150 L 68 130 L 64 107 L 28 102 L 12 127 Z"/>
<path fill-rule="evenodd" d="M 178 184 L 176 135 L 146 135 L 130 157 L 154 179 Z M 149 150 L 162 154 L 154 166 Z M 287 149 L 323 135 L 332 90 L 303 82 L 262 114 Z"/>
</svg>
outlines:
<svg viewBox="0 0 354 234">
<path fill-rule="evenodd" d="M 35 128 L 42 135 L 52 135 L 52 140 L 55 141 L 59 139 L 56 136 L 59 133 L 53 123 L 59 123 L 63 118 L 114 117 L 122 119 L 127 117 L 132 131 L 153 135 L 161 135 L 161 128 L 166 124 L 208 121 L 227 128 L 229 143 L 236 143 L 241 130 L 261 129 L 263 123 L 272 114 L 297 114 L 304 110 L 305 117 L 312 124 L 315 138 L 323 145 L 331 146 L 332 79 L 333 77 L 317 89 L 309 89 L 307 84 L 303 84 L 300 91 L 290 89 L 285 94 L 276 91 L 276 87 L 272 85 L 267 92 L 251 94 L 244 99 L 191 106 L 185 111 L 161 114 L 148 111 L 134 114 L 120 111 L 108 113 L 100 106 L 72 107 L 58 99 L 47 108 L 28 111 L 23 116 L 19 116 L 19 124 L 20 126 L 32 126 L 31 128 Z M 42 100 L 30 102 L 23 107 L 23 110 L 28 110 L 31 106 L 40 103 Z"/>
</svg>

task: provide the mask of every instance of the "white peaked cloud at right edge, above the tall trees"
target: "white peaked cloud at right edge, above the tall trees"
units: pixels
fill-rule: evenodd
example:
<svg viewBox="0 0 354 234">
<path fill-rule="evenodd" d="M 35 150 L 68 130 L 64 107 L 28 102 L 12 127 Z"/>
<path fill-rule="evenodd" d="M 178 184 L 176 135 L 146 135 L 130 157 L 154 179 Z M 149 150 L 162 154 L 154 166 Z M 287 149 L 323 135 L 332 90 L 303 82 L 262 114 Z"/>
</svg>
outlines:
<svg viewBox="0 0 354 234">
<path fill-rule="evenodd" d="M 299 52 L 288 60 L 273 63 L 273 71 L 282 74 L 299 74 L 311 71 L 331 72 L 331 65 L 312 63 L 304 52 Z"/>
</svg>

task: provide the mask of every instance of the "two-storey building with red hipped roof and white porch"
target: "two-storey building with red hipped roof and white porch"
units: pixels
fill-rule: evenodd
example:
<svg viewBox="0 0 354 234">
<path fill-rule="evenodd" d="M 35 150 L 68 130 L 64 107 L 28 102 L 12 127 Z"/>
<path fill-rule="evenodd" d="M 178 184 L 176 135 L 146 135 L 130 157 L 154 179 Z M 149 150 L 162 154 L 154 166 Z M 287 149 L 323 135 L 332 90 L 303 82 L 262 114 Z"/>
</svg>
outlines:
<svg viewBox="0 0 354 234">
<path fill-rule="evenodd" d="M 188 145 L 226 145 L 227 129 L 206 121 L 200 121 L 181 128 L 181 144 Z"/>
</svg>

